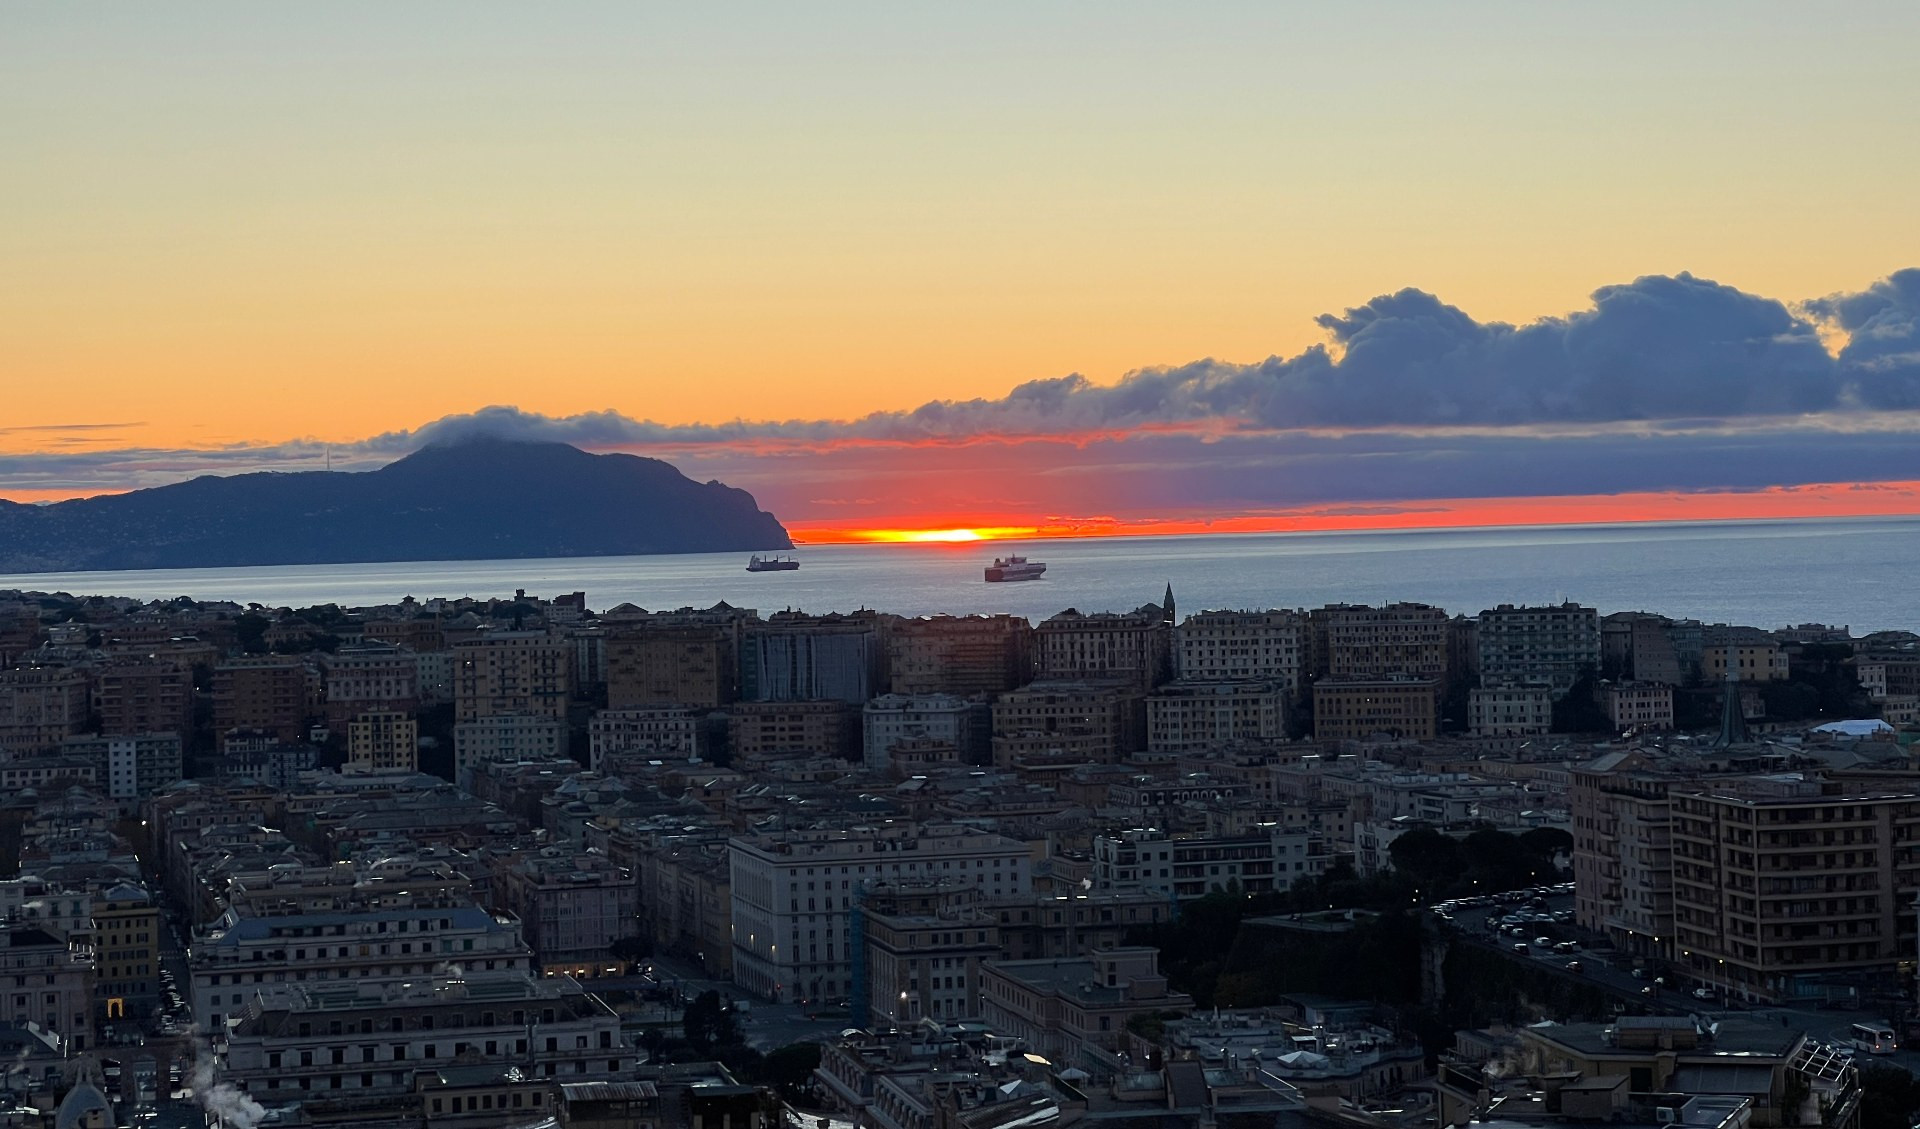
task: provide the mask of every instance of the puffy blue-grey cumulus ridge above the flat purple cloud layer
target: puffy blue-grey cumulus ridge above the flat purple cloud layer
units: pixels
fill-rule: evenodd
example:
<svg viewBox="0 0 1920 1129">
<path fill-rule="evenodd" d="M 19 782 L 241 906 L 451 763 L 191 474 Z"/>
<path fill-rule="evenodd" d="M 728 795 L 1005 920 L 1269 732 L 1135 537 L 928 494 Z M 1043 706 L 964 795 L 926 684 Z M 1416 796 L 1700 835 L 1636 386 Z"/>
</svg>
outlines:
<svg viewBox="0 0 1920 1129">
<path fill-rule="evenodd" d="M 816 444 L 1206 422 L 1275 430 L 1659 422 L 1805 415 L 1855 399 L 1908 407 L 1895 386 L 1914 384 L 1920 399 L 1920 367 L 1910 355 L 1916 300 L 1920 271 L 1809 303 L 1805 317 L 1778 300 L 1693 275 L 1649 275 L 1596 290 L 1590 309 L 1513 326 L 1475 321 L 1423 290 L 1402 290 L 1319 317 L 1331 346 L 1250 365 L 1204 359 L 1139 369 L 1116 384 L 1054 376 L 996 399 L 937 399 L 854 420 L 666 426 L 614 411 L 549 419 L 490 407 L 367 445 L 403 449 L 476 432 L 586 445 Z M 1855 344 L 1834 357 L 1812 319 L 1849 326 Z"/>
</svg>

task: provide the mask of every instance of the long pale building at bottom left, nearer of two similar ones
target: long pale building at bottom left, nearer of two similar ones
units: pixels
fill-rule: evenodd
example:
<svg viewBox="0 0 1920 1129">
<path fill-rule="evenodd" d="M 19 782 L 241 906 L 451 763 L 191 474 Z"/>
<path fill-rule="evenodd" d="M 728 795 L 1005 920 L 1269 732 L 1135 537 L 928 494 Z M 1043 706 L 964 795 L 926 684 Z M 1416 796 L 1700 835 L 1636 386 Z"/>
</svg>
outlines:
<svg viewBox="0 0 1920 1129">
<path fill-rule="evenodd" d="M 434 975 L 303 985 L 246 1010 L 217 1071 L 261 1104 L 401 1098 L 420 1071 L 503 1062 L 524 1077 L 622 1079 L 620 1018 L 568 977 Z"/>
</svg>

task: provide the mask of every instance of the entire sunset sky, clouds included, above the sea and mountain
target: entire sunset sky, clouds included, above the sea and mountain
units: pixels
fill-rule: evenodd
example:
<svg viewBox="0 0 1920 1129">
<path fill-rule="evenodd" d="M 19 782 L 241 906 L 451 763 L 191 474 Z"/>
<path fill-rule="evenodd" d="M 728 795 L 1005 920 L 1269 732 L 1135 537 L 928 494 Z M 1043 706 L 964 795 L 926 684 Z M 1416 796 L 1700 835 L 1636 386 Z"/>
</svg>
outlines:
<svg viewBox="0 0 1920 1129">
<path fill-rule="evenodd" d="M 1916 42 L 1910 2 L 13 4 L 0 497 L 480 428 L 814 538 L 1920 513 Z"/>
</svg>

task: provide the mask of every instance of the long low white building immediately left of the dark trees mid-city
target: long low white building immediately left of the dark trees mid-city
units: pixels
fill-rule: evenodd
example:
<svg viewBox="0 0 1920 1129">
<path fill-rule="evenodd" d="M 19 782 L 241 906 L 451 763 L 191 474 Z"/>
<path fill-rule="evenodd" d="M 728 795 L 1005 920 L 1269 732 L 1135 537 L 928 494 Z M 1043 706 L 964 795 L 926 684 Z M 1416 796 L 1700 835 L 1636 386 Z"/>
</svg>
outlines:
<svg viewBox="0 0 1920 1129">
<path fill-rule="evenodd" d="M 1140 887 L 1167 899 L 1225 889 L 1279 893 L 1332 864 L 1325 841 L 1275 824 L 1244 835 L 1169 835 L 1133 828 L 1092 839 L 1094 889 Z"/>
</svg>

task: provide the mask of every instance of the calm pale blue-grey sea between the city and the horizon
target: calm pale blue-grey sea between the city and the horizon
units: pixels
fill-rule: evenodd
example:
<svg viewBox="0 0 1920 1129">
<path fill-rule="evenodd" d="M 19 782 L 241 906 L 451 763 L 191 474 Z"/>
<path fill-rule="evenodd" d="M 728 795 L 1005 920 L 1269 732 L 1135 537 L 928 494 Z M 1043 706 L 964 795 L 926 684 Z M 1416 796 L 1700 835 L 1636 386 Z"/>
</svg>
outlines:
<svg viewBox="0 0 1920 1129">
<path fill-rule="evenodd" d="M 985 584 L 996 553 L 1046 561 L 1046 576 Z M 588 605 L 647 609 L 730 601 L 772 613 L 874 607 L 900 614 L 1125 611 L 1165 586 L 1183 613 L 1411 599 L 1453 613 L 1574 599 L 1601 613 L 1707 622 L 1920 630 L 1920 518 L 1528 526 L 1363 534 L 1221 534 L 975 545 L 818 545 L 799 572 L 745 572 L 747 553 L 286 564 L 0 576 L 25 588 L 142 599 L 376 605 L 403 595 L 586 591 Z"/>
</svg>

